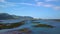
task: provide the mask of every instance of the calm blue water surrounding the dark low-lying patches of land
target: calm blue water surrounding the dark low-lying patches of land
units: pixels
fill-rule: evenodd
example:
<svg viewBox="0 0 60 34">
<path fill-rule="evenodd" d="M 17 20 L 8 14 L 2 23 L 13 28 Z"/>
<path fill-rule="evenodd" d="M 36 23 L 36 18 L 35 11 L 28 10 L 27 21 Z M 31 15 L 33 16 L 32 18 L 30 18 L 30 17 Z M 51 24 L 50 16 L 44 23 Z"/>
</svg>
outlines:
<svg viewBox="0 0 60 34">
<path fill-rule="evenodd" d="M 11 23 L 11 22 L 18 22 L 21 20 L 6 20 L 5 23 Z M 17 28 L 13 28 L 13 29 L 3 29 L 0 30 L 0 32 L 6 32 L 6 31 L 11 31 L 11 30 L 18 30 L 18 29 L 22 29 L 22 28 L 29 28 L 33 31 L 33 34 L 60 34 L 60 22 L 56 22 L 56 21 L 50 21 L 50 20 L 38 20 L 41 24 L 48 24 L 48 25 L 52 25 L 55 26 L 54 28 L 44 28 L 44 27 L 39 27 L 39 28 L 34 28 L 32 27 L 32 21 L 31 20 L 26 20 L 25 24 L 17 27 Z"/>
</svg>

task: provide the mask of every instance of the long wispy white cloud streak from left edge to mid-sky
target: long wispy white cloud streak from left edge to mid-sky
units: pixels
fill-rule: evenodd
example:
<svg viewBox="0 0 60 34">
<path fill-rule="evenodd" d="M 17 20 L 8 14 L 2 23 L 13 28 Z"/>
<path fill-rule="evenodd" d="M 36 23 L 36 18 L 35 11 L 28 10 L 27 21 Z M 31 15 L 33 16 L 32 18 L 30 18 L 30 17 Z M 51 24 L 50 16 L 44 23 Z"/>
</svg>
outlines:
<svg viewBox="0 0 60 34">
<path fill-rule="evenodd" d="M 34 4 L 31 3 L 14 3 L 14 2 L 5 2 L 2 5 L 0 4 L 1 8 L 6 8 L 6 7 L 15 7 L 19 5 L 30 5 L 30 6 L 35 6 Z"/>
</svg>

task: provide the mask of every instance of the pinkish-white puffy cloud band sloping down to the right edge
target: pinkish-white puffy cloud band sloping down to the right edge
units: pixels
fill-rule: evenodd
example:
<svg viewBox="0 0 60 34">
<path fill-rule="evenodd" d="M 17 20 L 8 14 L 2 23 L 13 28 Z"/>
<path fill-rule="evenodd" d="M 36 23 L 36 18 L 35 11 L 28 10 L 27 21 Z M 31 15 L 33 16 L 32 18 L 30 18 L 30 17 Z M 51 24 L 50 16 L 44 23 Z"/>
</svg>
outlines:
<svg viewBox="0 0 60 34">
<path fill-rule="evenodd" d="M 50 0 L 50 1 L 53 1 L 53 0 Z M 43 6 L 43 7 L 46 7 L 46 8 L 52 8 L 52 9 L 55 9 L 55 10 L 60 10 L 60 6 L 56 6 L 56 5 L 53 5 L 53 4 L 47 4 L 45 2 L 36 2 L 35 4 L 36 6 Z"/>
</svg>

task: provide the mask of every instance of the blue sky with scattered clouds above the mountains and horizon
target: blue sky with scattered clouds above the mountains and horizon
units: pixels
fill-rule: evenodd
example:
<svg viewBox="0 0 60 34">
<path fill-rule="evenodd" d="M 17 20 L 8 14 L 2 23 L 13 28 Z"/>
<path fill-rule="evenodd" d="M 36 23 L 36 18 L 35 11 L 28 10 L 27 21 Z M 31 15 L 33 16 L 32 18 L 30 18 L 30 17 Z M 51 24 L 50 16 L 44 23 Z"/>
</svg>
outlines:
<svg viewBox="0 0 60 34">
<path fill-rule="evenodd" d="M 60 19 L 60 0 L 0 0 L 0 13 Z"/>
</svg>

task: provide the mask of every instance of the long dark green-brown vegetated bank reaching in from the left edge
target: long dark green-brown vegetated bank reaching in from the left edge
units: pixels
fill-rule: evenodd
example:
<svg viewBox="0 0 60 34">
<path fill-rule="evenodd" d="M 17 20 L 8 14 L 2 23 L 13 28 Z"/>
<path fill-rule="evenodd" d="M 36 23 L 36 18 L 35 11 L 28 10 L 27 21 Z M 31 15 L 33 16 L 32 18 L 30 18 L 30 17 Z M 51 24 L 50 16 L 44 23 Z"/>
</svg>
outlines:
<svg viewBox="0 0 60 34">
<path fill-rule="evenodd" d="M 11 24 L 0 24 L 0 29 L 10 29 L 10 28 L 15 28 L 15 27 L 18 27 L 18 26 L 21 26 L 23 25 L 25 22 L 22 21 L 22 22 L 18 22 L 18 23 L 11 23 Z"/>
</svg>

